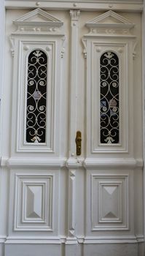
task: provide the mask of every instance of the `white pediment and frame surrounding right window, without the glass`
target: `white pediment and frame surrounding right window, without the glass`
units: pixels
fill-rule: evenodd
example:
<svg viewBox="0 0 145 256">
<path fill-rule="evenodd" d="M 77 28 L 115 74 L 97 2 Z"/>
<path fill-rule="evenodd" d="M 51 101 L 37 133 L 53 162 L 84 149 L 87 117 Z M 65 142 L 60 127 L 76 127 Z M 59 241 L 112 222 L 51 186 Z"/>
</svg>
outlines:
<svg viewBox="0 0 145 256">
<path fill-rule="evenodd" d="M 86 23 L 90 33 L 86 34 L 87 51 L 87 156 L 96 157 L 96 153 L 128 153 L 129 132 L 128 110 L 132 110 L 133 88 L 133 37 L 130 29 L 134 24 L 129 20 L 109 11 Z M 118 38 L 118 37 L 119 38 Z M 105 42 L 104 42 L 105 41 Z M 120 48 L 122 48 L 120 52 Z M 119 143 L 101 144 L 100 138 L 100 58 L 105 51 L 112 51 L 119 58 Z M 130 66 L 131 65 L 131 66 Z M 122 75 L 123 74 L 123 75 Z M 97 99 L 97 100 L 96 100 Z M 129 99 L 129 100 L 128 100 Z M 130 105 L 128 104 L 130 102 Z M 98 114 L 96 110 L 98 109 Z M 133 113 L 130 113 L 133 116 Z M 129 122 L 128 122 L 129 120 Z M 128 124 L 129 123 L 129 124 Z M 97 131 L 97 132 L 96 132 Z M 129 137 L 130 136 L 130 137 Z"/>
</svg>

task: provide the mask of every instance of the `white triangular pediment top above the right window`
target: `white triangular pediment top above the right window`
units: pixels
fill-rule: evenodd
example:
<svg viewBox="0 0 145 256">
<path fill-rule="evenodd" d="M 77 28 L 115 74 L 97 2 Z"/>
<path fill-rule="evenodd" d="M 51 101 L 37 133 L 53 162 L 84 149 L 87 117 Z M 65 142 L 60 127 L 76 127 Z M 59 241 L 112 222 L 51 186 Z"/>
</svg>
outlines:
<svg viewBox="0 0 145 256">
<path fill-rule="evenodd" d="M 116 12 L 108 11 L 86 23 L 90 28 L 125 28 L 131 29 L 134 24 L 130 20 L 118 15 Z"/>
</svg>

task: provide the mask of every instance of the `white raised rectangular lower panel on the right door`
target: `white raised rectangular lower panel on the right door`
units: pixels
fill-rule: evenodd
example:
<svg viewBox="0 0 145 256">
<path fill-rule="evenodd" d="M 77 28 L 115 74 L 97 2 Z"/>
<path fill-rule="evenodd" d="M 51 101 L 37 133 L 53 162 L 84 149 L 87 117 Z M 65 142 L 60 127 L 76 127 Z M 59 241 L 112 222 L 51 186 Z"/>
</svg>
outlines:
<svg viewBox="0 0 145 256">
<path fill-rule="evenodd" d="M 128 230 L 128 175 L 92 175 L 92 230 Z"/>
</svg>

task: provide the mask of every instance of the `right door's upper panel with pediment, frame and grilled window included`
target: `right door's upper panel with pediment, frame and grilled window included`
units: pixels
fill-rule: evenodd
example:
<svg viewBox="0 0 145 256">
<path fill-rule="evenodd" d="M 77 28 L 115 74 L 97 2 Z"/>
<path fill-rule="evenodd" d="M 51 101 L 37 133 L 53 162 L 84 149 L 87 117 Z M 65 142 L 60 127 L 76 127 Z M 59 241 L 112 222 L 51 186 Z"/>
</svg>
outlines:
<svg viewBox="0 0 145 256">
<path fill-rule="evenodd" d="M 87 58 L 87 154 L 128 153 L 129 140 L 133 140 L 128 137 L 132 111 L 128 98 L 135 25 L 110 10 L 85 26 L 89 29 L 82 38 Z"/>
</svg>

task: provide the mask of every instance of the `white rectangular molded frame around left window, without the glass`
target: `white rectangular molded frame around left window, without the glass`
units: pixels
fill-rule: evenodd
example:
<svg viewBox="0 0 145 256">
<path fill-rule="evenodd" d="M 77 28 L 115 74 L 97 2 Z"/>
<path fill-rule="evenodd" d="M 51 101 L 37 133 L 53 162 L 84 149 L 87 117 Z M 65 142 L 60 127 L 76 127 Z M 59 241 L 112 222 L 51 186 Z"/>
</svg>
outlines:
<svg viewBox="0 0 145 256">
<path fill-rule="evenodd" d="M 38 40 L 35 42 L 28 41 L 28 40 L 23 40 L 19 41 L 20 45 L 20 52 L 18 53 L 21 56 L 21 59 L 18 58 L 17 54 L 17 67 L 15 69 L 18 69 L 17 71 L 17 84 L 19 86 L 17 87 L 17 152 L 49 152 L 49 153 L 54 153 L 55 151 L 55 99 L 54 99 L 54 91 L 55 91 L 55 72 L 56 70 L 54 69 L 55 67 L 55 52 L 56 52 L 56 42 L 53 40 L 51 41 L 50 44 L 46 41 L 44 42 L 39 42 Z M 23 50 L 25 46 L 29 47 L 28 52 Z M 47 134 L 46 134 L 46 141 L 45 143 L 27 143 L 26 142 L 26 99 L 27 99 L 27 86 L 26 85 L 26 72 L 28 67 L 26 66 L 27 63 L 27 58 L 28 58 L 28 53 L 32 50 L 34 50 L 36 47 L 44 50 L 46 53 L 45 48 L 50 47 L 52 50 L 47 52 L 47 57 L 49 58 L 49 64 L 51 65 L 50 67 L 47 67 L 47 105 L 46 108 L 49 109 L 49 115 L 47 115 L 46 118 L 46 127 L 47 127 Z M 26 70 L 26 72 L 25 72 Z M 21 95 L 25 95 L 25 97 L 21 97 Z M 15 96 L 14 96 L 15 97 Z"/>
</svg>

